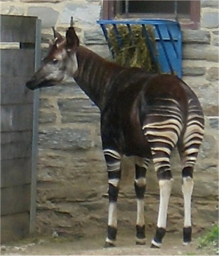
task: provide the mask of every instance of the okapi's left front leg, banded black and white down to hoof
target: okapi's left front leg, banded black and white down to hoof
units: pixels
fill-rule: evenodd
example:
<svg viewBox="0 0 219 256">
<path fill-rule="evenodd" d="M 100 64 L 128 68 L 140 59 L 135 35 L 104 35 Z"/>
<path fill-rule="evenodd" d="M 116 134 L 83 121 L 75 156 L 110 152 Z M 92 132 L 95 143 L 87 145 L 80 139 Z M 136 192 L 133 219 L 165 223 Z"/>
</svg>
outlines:
<svg viewBox="0 0 219 256">
<path fill-rule="evenodd" d="M 104 156 L 108 168 L 109 184 L 108 237 L 106 238 L 105 247 L 113 247 L 116 245 L 117 199 L 121 178 L 121 156 L 114 150 L 104 150 Z"/>
</svg>

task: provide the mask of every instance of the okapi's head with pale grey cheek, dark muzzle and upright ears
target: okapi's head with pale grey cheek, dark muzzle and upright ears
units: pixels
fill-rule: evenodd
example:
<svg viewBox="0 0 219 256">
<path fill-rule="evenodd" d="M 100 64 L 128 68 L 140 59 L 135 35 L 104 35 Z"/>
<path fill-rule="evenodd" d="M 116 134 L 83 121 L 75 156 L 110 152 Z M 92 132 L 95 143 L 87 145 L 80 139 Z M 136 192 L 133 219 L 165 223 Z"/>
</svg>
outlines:
<svg viewBox="0 0 219 256">
<path fill-rule="evenodd" d="M 30 90 L 56 85 L 64 79 L 66 74 L 73 76 L 78 69 L 76 51 L 79 39 L 73 26 L 66 31 L 66 38 L 54 28 L 53 32 L 55 40 L 49 48 L 48 55 L 43 59 L 41 68 L 26 83 Z"/>
</svg>

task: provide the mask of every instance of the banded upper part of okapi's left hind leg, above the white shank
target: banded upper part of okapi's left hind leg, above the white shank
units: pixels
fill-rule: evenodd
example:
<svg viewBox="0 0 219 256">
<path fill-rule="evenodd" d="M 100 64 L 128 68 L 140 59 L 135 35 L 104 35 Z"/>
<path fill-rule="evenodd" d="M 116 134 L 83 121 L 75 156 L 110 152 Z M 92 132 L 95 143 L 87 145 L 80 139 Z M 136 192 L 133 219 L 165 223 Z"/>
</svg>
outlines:
<svg viewBox="0 0 219 256">
<path fill-rule="evenodd" d="M 171 98 L 156 98 L 142 129 L 150 143 L 158 178 L 165 178 L 165 173 L 170 175 L 171 150 L 183 130 L 183 117 L 178 102 Z"/>
</svg>

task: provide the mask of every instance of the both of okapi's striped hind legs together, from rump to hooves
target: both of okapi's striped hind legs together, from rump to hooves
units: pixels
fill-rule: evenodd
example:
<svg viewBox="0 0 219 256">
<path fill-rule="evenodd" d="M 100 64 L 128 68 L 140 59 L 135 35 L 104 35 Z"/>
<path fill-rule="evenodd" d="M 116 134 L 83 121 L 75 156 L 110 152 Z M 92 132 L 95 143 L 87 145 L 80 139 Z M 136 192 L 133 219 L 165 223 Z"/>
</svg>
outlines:
<svg viewBox="0 0 219 256">
<path fill-rule="evenodd" d="M 183 116 L 178 101 L 172 98 L 156 98 L 143 124 L 143 132 L 151 147 L 151 155 L 160 185 L 158 222 L 152 247 L 160 247 L 166 232 L 166 218 L 173 178 L 170 168 L 171 151 L 179 143 L 183 162 L 182 192 L 185 220 L 183 242 L 191 242 L 191 194 L 193 191 L 193 168 L 203 140 L 203 113 L 197 102 L 188 102 L 188 115 Z"/>
</svg>

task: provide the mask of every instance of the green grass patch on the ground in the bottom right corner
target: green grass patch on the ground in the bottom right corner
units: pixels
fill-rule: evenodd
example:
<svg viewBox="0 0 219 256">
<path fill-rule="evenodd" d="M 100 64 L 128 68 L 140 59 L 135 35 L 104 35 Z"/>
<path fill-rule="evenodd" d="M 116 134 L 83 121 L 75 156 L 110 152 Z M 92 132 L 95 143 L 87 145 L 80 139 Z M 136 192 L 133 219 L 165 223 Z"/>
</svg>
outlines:
<svg viewBox="0 0 219 256">
<path fill-rule="evenodd" d="M 198 243 L 199 248 L 213 247 L 216 254 L 219 254 L 218 239 L 219 239 L 219 226 L 213 225 L 213 227 L 202 237 Z"/>
</svg>

